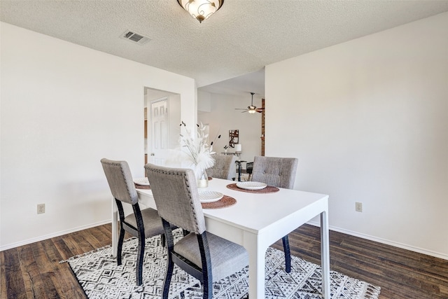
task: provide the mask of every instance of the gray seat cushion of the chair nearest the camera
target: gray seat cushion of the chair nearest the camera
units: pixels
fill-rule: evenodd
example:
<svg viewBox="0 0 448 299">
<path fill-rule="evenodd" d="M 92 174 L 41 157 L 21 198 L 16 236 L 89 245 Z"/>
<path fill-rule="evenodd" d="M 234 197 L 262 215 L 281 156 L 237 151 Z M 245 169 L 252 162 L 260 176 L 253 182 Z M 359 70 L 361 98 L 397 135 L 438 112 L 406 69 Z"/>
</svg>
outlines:
<svg viewBox="0 0 448 299">
<path fill-rule="evenodd" d="M 213 281 L 218 281 L 238 272 L 248 265 L 248 254 L 243 246 L 207 233 Z M 193 233 L 183 237 L 174 245 L 174 251 L 202 268 L 197 236 Z"/>
</svg>

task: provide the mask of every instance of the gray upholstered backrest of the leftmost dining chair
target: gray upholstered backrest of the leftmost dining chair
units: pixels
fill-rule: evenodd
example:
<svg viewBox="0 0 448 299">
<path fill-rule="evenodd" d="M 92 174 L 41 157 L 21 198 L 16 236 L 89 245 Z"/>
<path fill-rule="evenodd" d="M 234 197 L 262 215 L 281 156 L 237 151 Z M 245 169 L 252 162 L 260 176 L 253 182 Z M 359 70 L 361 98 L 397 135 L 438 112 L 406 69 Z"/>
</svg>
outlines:
<svg viewBox="0 0 448 299">
<path fill-rule="evenodd" d="M 139 197 L 126 161 L 101 160 L 113 197 L 128 204 L 137 204 Z"/>
</svg>

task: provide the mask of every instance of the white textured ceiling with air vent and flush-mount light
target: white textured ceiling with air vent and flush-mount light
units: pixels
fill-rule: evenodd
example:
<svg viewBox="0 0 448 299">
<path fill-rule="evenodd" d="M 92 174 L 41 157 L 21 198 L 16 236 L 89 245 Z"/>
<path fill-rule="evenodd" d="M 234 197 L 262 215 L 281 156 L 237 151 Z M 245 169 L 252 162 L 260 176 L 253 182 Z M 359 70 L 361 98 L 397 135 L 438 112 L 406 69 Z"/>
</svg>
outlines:
<svg viewBox="0 0 448 299">
<path fill-rule="evenodd" d="M 176 0 L 0 0 L 2 22 L 195 78 L 198 87 L 246 75 L 227 81 L 241 92 L 258 92 L 266 64 L 444 11 L 448 1 L 225 0 L 200 24 Z M 120 39 L 127 29 L 152 40 Z"/>
</svg>

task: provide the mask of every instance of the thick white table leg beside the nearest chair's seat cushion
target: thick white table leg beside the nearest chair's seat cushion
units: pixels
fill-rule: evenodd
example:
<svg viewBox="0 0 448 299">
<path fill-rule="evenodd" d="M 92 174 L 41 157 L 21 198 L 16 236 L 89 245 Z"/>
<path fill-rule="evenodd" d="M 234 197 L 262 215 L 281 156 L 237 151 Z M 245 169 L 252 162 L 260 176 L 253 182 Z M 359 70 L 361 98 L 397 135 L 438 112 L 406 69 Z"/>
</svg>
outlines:
<svg viewBox="0 0 448 299">
<path fill-rule="evenodd" d="M 265 298 L 265 254 L 267 246 L 258 236 L 244 232 L 244 248 L 249 257 L 249 298 Z"/>
</svg>

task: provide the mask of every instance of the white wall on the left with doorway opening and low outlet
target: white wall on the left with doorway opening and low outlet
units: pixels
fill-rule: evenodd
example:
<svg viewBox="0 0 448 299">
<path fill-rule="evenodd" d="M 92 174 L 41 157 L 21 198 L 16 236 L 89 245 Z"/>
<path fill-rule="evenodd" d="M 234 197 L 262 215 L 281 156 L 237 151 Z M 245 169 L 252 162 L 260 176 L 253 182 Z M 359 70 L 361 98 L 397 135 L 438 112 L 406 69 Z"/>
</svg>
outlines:
<svg viewBox="0 0 448 299">
<path fill-rule="evenodd" d="M 143 176 L 144 87 L 180 94 L 183 120 L 196 123 L 195 81 L 0 25 L 0 250 L 110 222 L 99 160 Z"/>
</svg>

